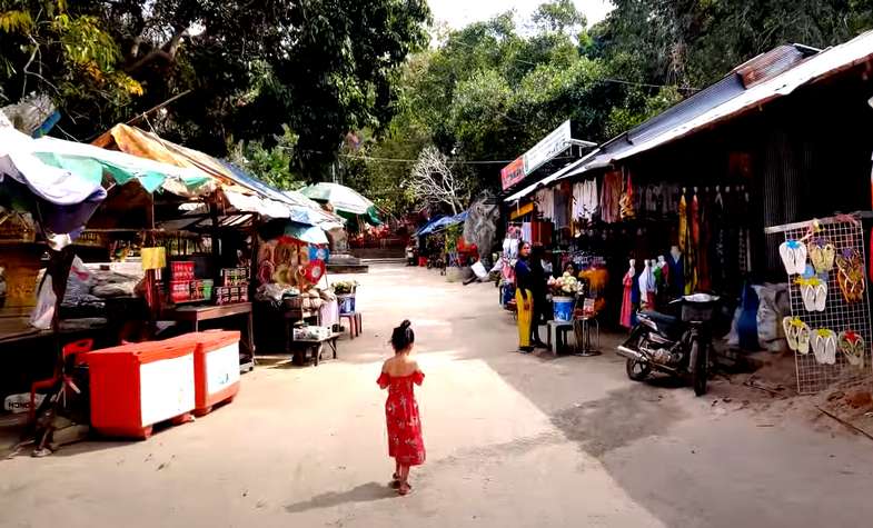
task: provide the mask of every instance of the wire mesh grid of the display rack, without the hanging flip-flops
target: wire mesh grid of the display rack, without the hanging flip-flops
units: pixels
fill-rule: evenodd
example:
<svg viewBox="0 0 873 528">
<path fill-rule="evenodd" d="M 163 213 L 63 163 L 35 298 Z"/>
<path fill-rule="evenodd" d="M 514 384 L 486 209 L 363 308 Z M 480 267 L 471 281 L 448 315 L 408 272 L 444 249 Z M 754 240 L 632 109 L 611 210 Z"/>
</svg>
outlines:
<svg viewBox="0 0 873 528">
<path fill-rule="evenodd" d="M 837 282 L 837 269 L 827 273 L 827 302 L 824 311 L 806 311 L 801 287 L 796 282 L 797 276 L 788 278 L 788 291 L 791 297 L 791 313 L 805 322 L 811 331 L 819 329 L 831 329 L 835 333 L 843 330 L 854 330 L 864 338 L 864 365 L 855 367 L 850 365 L 845 355 L 836 351 L 836 363 L 820 363 L 815 355 L 810 351 L 807 355 L 794 352 L 794 360 L 797 370 L 797 392 L 813 393 L 826 389 L 839 381 L 852 381 L 871 376 L 871 346 L 873 346 L 873 332 L 871 332 L 870 318 L 870 283 L 867 279 L 867 259 L 865 253 L 866 243 L 864 241 L 864 229 L 861 223 L 860 215 L 839 216 L 820 219 L 819 225 L 823 230 L 805 242 L 816 238 L 826 239 L 840 255 L 843 250 L 854 249 L 861 255 L 864 266 L 865 289 L 862 299 L 857 302 L 846 302 L 840 285 Z M 785 240 L 801 240 L 810 233 L 811 222 L 798 222 L 785 226 L 775 226 L 766 229 L 767 233 L 784 233 Z M 810 259 L 807 257 L 807 263 Z M 780 321 L 781 323 L 782 321 Z"/>
</svg>

